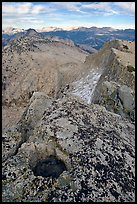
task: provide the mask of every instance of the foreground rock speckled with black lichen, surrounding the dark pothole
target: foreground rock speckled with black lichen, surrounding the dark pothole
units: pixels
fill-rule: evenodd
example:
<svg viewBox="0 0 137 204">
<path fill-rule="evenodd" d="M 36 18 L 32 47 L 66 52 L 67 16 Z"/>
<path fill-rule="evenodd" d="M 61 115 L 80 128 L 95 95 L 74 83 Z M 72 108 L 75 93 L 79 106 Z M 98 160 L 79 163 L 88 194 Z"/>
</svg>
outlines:
<svg viewBox="0 0 137 204">
<path fill-rule="evenodd" d="M 10 152 L 4 153 L 3 202 L 134 202 L 134 124 L 72 96 L 53 100 L 44 110 L 48 101 L 44 93 L 32 96 L 10 131 L 15 144 L 22 140 L 12 154 L 10 140 L 3 137 Z M 35 115 L 30 110 L 40 107 L 43 111 L 33 119 L 33 131 L 27 131 L 28 125 L 22 129 L 20 124 L 30 123 Z M 34 167 L 49 156 L 64 162 L 67 170 L 58 178 L 35 176 Z"/>
</svg>

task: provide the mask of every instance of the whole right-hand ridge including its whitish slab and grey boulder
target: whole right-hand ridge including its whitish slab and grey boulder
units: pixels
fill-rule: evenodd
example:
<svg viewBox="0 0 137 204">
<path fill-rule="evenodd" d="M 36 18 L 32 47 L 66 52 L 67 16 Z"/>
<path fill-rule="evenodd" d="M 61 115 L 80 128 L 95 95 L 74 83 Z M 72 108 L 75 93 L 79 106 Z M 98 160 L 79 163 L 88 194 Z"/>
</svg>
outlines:
<svg viewBox="0 0 137 204">
<path fill-rule="evenodd" d="M 114 40 L 86 57 L 85 75 L 73 82 L 72 94 L 87 103 L 135 120 L 135 43 Z"/>
</svg>

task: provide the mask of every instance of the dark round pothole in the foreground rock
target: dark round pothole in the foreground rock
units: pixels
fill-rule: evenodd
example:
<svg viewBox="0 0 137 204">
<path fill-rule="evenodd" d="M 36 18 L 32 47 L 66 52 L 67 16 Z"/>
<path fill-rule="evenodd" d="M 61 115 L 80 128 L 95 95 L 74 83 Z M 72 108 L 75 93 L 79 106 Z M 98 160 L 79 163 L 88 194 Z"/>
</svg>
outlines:
<svg viewBox="0 0 137 204">
<path fill-rule="evenodd" d="M 35 176 L 58 178 L 67 168 L 63 161 L 58 160 L 55 156 L 49 156 L 38 161 L 32 170 Z"/>
</svg>

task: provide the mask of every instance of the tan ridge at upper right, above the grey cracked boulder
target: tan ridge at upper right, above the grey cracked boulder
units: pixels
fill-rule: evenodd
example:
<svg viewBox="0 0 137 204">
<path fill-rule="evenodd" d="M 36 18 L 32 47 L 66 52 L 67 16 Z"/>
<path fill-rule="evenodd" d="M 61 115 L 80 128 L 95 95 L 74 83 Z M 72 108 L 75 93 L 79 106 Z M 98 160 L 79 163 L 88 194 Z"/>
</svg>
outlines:
<svg viewBox="0 0 137 204">
<path fill-rule="evenodd" d="M 108 42 L 97 54 L 86 58 L 85 66 L 89 69 L 102 68 L 101 81 L 112 80 L 134 89 L 135 42 L 120 40 Z"/>
</svg>

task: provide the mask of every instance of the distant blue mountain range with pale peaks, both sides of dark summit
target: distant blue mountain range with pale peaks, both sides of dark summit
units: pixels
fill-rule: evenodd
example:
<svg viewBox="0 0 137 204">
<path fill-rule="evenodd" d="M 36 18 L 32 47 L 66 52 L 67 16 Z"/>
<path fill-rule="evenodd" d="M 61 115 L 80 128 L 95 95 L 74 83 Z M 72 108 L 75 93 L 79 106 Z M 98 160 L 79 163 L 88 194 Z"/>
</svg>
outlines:
<svg viewBox="0 0 137 204">
<path fill-rule="evenodd" d="M 135 40 L 134 29 L 113 29 L 111 27 L 67 27 L 65 29 L 57 27 L 44 27 L 37 29 L 37 32 L 43 35 L 58 36 L 64 39 L 70 39 L 75 44 L 82 45 L 85 50 L 94 52 L 99 50 L 105 42 L 111 40 Z M 2 30 L 2 45 L 6 45 L 12 39 L 23 36 L 26 33 L 24 29 L 6 28 Z M 94 48 L 94 49 L 93 49 Z"/>
</svg>

